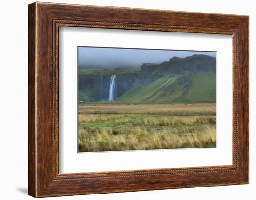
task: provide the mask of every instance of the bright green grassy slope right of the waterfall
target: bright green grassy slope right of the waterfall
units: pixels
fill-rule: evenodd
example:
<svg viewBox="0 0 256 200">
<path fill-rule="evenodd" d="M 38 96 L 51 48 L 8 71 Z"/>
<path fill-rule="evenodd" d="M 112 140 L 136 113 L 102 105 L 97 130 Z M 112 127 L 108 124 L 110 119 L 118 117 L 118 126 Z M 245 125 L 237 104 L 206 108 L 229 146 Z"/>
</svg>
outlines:
<svg viewBox="0 0 256 200">
<path fill-rule="evenodd" d="M 129 90 L 117 99 L 118 102 L 197 102 L 216 101 L 216 74 L 213 72 L 198 72 L 192 80 L 192 87 L 183 94 L 187 83 L 179 84 L 180 75 L 167 75 L 148 85 L 139 85 Z"/>
</svg>

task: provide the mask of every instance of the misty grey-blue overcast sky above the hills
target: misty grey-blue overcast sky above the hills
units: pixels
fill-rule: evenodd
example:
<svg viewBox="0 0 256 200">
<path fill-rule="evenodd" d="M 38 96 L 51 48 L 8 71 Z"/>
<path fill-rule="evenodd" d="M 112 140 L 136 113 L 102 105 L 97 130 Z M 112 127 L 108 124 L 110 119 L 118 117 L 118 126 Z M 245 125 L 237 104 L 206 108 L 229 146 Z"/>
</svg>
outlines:
<svg viewBox="0 0 256 200">
<path fill-rule="evenodd" d="M 216 57 L 216 52 L 78 47 L 78 67 L 140 67 L 143 63 L 162 63 L 174 56 L 186 57 L 194 54 Z"/>
</svg>

